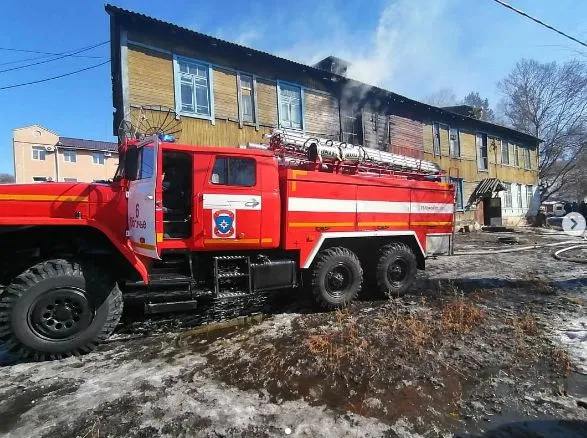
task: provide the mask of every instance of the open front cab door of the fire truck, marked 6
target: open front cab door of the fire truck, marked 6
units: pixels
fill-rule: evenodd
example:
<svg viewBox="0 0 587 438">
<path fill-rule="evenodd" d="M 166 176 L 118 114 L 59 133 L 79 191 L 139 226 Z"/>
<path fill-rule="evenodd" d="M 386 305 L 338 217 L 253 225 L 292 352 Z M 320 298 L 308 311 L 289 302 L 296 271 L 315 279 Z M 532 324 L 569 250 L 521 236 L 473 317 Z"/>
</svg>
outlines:
<svg viewBox="0 0 587 438">
<path fill-rule="evenodd" d="M 157 168 L 159 140 L 151 138 L 139 143 L 132 154 L 133 175 L 128 186 L 128 237 L 137 254 L 159 259 L 157 232 L 155 228 L 155 205 L 157 200 Z M 134 164 L 136 163 L 136 164 Z"/>
</svg>

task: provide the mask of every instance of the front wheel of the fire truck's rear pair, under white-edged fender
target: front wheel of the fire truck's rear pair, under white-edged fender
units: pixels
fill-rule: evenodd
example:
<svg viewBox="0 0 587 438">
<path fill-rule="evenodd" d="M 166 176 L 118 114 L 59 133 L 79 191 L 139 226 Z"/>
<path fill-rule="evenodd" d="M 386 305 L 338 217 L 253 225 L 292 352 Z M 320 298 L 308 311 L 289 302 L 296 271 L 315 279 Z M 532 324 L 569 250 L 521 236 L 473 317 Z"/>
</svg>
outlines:
<svg viewBox="0 0 587 438">
<path fill-rule="evenodd" d="M 326 309 L 344 307 L 353 301 L 363 283 L 363 270 L 352 251 L 337 247 L 318 254 L 312 270 L 312 292 Z"/>
</svg>

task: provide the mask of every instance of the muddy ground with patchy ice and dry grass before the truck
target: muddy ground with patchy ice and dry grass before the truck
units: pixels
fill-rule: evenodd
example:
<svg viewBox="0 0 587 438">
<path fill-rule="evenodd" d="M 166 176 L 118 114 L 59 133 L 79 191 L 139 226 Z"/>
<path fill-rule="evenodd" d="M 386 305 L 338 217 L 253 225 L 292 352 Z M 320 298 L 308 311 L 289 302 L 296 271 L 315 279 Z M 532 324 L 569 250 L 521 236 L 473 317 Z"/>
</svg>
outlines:
<svg viewBox="0 0 587 438">
<path fill-rule="evenodd" d="M 126 315 L 87 356 L 0 368 L 0 435 L 587 436 L 587 265 L 552 257 L 567 240 L 460 234 L 411 294 L 367 286 L 338 312 L 282 293 L 221 324 Z"/>
</svg>

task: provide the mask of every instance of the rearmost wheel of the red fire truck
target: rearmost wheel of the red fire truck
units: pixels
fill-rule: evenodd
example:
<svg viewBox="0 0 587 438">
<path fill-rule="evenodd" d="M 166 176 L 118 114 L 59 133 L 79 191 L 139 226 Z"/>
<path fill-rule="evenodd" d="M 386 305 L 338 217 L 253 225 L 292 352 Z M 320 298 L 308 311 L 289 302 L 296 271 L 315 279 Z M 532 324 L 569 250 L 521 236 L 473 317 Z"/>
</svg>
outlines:
<svg viewBox="0 0 587 438">
<path fill-rule="evenodd" d="M 414 283 L 418 262 L 411 248 L 391 243 L 381 248 L 375 268 L 379 292 L 388 297 L 405 293 Z"/>
</svg>

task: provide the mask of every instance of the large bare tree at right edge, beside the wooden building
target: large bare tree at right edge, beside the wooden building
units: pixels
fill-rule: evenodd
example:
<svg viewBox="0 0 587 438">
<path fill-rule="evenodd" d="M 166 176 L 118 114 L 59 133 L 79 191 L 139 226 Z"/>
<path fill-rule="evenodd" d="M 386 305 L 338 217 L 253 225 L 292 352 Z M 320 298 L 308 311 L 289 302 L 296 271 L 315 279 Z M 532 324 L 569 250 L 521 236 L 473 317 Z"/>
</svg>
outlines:
<svg viewBox="0 0 587 438">
<path fill-rule="evenodd" d="M 587 145 L 587 67 L 524 59 L 498 87 L 508 123 L 542 139 L 542 200 L 564 192 Z"/>
</svg>

